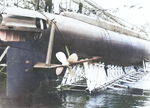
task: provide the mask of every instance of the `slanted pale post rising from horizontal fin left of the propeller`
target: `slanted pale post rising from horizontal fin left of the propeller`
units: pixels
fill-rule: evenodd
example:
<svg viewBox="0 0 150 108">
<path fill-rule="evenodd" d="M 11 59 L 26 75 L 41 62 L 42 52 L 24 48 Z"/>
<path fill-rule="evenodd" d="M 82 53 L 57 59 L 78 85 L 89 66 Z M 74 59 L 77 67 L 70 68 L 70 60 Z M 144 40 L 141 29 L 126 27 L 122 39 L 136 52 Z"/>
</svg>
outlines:
<svg viewBox="0 0 150 108">
<path fill-rule="evenodd" d="M 55 35 L 55 22 L 52 21 L 46 57 L 46 64 L 48 65 L 51 63 L 54 35 Z"/>
</svg>

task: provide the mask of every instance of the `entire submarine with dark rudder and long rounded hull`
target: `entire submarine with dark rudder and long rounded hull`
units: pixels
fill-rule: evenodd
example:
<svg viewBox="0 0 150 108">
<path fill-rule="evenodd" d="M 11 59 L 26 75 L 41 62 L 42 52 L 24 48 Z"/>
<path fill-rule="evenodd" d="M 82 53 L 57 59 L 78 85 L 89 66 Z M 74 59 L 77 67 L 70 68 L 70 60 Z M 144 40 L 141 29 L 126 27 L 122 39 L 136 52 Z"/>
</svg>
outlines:
<svg viewBox="0 0 150 108">
<path fill-rule="evenodd" d="M 57 66 L 35 68 L 39 62 L 47 64 L 48 56 L 51 56 L 48 63 L 60 64 L 55 56 L 57 52 L 67 55 L 68 50 L 70 54 L 76 53 L 78 59 L 101 57 L 106 65 L 138 66 L 150 61 L 147 36 L 107 21 L 72 12 L 56 15 L 11 7 L 3 9 L 0 19 L 0 40 L 9 46 L 9 98 L 36 91 L 43 71 L 49 71 L 50 77 L 57 79 Z M 51 54 L 48 55 L 51 34 Z"/>
</svg>

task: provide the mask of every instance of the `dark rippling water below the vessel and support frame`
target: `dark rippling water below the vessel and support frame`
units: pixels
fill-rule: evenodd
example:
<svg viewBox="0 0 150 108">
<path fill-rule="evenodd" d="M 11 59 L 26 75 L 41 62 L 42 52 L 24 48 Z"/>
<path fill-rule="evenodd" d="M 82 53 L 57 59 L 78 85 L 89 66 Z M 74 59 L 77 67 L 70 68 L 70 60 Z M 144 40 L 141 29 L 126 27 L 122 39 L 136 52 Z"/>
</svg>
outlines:
<svg viewBox="0 0 150 108">
<path fill-rule="evenodd" d="M 150 108 L 150 90 L 141 89 L 149 86 L 148 77 L 134 84 L 134 88 L 122 91 L 109 90 L 95 94 L 60 92 L 49 88 L 48 84 L 43 84 L 32 96 L 8 99 L 6 76 L 0 76 L 0 108 Z M 136 85 L 138 89 L 135 89 Z"/>
</svg>

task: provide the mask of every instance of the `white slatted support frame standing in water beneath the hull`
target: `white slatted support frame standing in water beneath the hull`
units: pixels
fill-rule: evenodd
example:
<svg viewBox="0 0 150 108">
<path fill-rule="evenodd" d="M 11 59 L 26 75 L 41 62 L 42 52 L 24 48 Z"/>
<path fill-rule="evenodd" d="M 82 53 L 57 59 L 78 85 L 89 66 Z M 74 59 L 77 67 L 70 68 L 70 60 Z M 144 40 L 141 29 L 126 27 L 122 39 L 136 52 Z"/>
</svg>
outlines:
<svg viewBox="0 0 150 108">
<path fill-rule="evenodd" d="M 145 76 L 143 68 L 139 69 L 142 71 L 137 71 L 134 69 L 134 66 L 107 65 L 107 72 L 104 67 L 103 63 L 89 62 L 84 62 L 78 66 L 74 65 L 72 70 L 76 73 L 76 77 L 72 77 L 67 70 L 59 87 L 69 86 L 67 90 L 72 90 L 70 86 L 82 86 L 87 87 L 85 90 L 88 90 L 90 93 L 106 89 L 122 90 L 129 87 L 126 84 L 133 84 Z M 81 84 L 83 81 L 85 84 Z"/>
</svg>

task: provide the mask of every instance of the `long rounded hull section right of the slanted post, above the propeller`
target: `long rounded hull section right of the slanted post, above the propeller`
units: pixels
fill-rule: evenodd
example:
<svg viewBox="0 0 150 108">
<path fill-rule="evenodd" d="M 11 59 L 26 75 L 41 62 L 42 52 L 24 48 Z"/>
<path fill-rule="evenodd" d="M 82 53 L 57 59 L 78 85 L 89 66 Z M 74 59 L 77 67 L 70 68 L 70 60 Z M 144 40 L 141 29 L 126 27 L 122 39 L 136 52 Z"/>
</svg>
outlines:
<svg viewBox="0 0 150 108">
<path fill-rule="evenodd" d="M 67 46 L 79 58 L 101 56 L 108 64 L 131 65 L 150 60 L 148 40 L 119 34 L 71 18 L 57 16 L 55 20 L 55 53 Z"/>
</svg>

